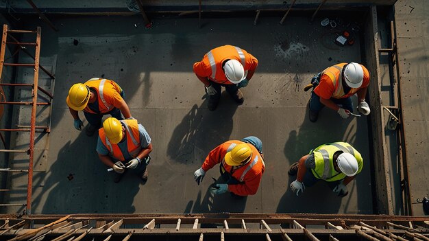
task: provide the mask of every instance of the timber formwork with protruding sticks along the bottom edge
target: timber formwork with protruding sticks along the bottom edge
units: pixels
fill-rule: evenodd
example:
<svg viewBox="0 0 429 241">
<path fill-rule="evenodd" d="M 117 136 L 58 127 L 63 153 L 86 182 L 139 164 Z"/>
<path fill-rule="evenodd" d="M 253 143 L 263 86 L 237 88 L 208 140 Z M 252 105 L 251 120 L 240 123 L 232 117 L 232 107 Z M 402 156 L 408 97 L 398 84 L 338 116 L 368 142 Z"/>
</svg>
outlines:
<svg viewBox="0 0 429 241">
<path fill-rule="evenodd" d="M 0 216 L 9 240 L 429 240 L 429 218 L 341 214 Z"/>
</svg>

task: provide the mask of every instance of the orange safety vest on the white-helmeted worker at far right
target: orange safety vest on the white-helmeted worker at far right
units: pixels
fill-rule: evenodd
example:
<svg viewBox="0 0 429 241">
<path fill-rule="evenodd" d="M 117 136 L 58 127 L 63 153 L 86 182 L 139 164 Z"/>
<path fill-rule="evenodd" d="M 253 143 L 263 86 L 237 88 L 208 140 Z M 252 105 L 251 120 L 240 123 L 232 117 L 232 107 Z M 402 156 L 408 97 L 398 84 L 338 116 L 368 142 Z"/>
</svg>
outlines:
<svg viewBox="0 0 429 241">
<path fill-rule="evenodd" d="M 331 67 L 328 67 L 322 71 L 322 75 L 328 76 L 332 81 L 332 85 L 334 86 L 334 93 L 332 93 L 332 97 L 336 99 L 350 97 L 360 89 L 360 88 L 352 88 L 350 89 L 349 93 L 344 93 L 343 75 L 341 73 L 343 73 L 343 67 L 345 65 L 347 65 L 347 63 L 342 62 L 338 65 L 333 65 Z M 365 67 L 362 66 L 362 68 L 364 69 Z"/>
</svg>

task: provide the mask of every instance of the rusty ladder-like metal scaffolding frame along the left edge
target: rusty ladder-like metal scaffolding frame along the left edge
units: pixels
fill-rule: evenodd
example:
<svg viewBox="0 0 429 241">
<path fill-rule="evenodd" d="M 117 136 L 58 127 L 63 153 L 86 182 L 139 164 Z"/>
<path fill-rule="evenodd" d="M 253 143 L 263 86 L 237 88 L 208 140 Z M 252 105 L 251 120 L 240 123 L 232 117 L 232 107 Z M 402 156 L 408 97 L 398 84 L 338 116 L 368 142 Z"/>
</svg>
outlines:
<svg viewBox="0 0 429 241">
<path fill-rule="evenodd" d="M 14 36 L 11 34 L 36 34 L 36 40 L 35 43 L 22 43 L 18 41 Z M 28 149 L 13 149 L 13 148 L 5 148 L 0 150 L 0 152 L 9 152 L 9 153 L 16 153 L 16 152 L 23 152 L 27 153 L 29 155 L 29 164 L 27 170 L 14 170 L 12 168 L 1 168 L 0 172 L 27 172 L 28 174 L 28 183 L 27 183 L 27 201 L 26 203 L 3 203 L 0 204 L 0 206 L 25 206 L 26 207 L 26 213 L 31 214 L 31 207 L 32 207 L 32 183 L 33 183 L 33 160 L 34 160 L 34 144 L 35 144 L 35 133 L 36 132 L 43 132 L 43 133 L 49 133 L 50 127 L 47 126 L 36 126 L 36 113 L 37 113 L 37 106 L 46 106 L 51 105 L 51 101 L 53 99 L 53 94 L 49 93 L 49 91 L 46 91 L 45 89 L 38 86 L 38 78 L 39 78 L 39 68 L 42 69 L 47 75 L 54 79 L 52 73 L 47 71 L 44 67 L 40 66 L 39 64 L 39 56 L 40 56 L 40 34 L 41 34 L 41 28 L 37 27 L 36 31 L 29 31 L 29 30 L 8 30 L 8 25 L 3 25 L 3 38 L 1 41 L 1 51 L 0 51 L 0 92 L 2 94 L 2 100 L 0 101 L 0 106 L 10 104 L 10 105 L 24 105 L 24 106 L 32 106 L 32 113 L 31 113 L 31 120 L 29 126 L 20 126 L 17 125 L 17 128 L 3 128 L 0 129 L 2 132 L 29 132 L 29 147 Z M 12 62 L 5 62 L 5 49 L 6 45 L 14 45 L 17 47 L 17 51 L 21 50 L 28 56 L 30 56 L 34 63 L 12 63 Z M 26 47 L 34 47 L 35 48 L 35 54 L 32 56 L 32 54 L 27 51 Z M 12 83 L 12 81 L 8 81 L 8 83 L 3 83 L 3 67 L 32 67 L 34 68 L 34 78 L 33 83 Z M 18 80 L 17 80 L 18 81 Z M 25 89 L 31 89 L 32 91 L 32 101 L 31 102 L 16 102 L 16 101 L 7 101 L 5 100 L 5 94 L 3 92 L 3 87 L 11 87 L 11 88 L 25 88 Z M 49 98 L 48 102 L 38 102 L 38 91 L 44 93 Z M 2 137 L 3 140 L 3 137 Z M 3 140 L 4 146 L 6 146 L 5 141 Z M 10 146 L 10 145 L 9 145 Z M 1 190 L 3 192 L 7 192 L 9 190 Z"/>
</svg>

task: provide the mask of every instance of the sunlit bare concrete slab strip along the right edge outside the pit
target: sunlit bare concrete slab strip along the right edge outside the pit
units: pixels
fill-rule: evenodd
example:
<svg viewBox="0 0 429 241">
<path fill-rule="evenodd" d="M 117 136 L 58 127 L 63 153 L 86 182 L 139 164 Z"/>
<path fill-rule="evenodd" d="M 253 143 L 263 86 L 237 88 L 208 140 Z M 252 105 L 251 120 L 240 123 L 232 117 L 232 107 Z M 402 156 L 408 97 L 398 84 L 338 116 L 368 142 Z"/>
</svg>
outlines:
<svg viewBox="0 0 429 241">
<path fill-rule="evenodd" d="M 417 198 L 429 196 L 426 167 L 429 135 L 429 5 L 426 1 L 397 1 L 397 52 L 400 56 L 400 84 L 403 106 L 406 159 L 410 194 L 415 216 L 428 215 Z"/>
</svg>

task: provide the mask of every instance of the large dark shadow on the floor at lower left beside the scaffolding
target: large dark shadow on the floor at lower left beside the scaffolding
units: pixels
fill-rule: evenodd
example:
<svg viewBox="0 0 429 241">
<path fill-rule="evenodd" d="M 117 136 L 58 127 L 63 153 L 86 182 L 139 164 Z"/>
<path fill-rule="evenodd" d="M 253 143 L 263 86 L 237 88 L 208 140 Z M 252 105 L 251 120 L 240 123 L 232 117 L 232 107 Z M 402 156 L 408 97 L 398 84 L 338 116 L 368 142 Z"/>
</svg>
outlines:
<svg viewBox="0 0 429 241">
<path fill-rule="evenodd" d="M 34 176 L 34 207 L 43 214 L 132 213 L 140 179 L 132 173 L 114 183 L 114 172 L 101 163 L 95 148 L 97 134 L 87 137 L 82 130 L 67 142 L 47 172 Z M 37 194 L 38 193 L 38 194 Z"/>
</svg>

